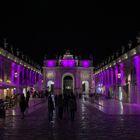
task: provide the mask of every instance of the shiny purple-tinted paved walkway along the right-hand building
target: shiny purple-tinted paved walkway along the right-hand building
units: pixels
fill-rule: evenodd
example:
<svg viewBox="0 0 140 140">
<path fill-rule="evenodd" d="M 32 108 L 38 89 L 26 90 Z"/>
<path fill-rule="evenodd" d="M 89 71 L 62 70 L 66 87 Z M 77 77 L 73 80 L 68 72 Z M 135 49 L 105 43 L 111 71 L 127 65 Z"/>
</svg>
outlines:
<svg viewBox="0 0 140 140">
<path fill-rule="evenodd" d="M 115 99 L 100 98 L 89 101 L 100 111 L 111 115 L 140 115 L 140 105 L 123 103 Z"/>
</svg>

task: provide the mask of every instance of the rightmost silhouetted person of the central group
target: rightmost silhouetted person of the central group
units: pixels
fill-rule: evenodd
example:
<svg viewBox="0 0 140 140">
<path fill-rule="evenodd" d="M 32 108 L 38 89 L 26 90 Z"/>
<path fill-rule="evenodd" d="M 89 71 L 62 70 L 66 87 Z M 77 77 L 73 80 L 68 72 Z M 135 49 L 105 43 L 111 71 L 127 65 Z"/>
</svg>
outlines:
<svg viewBox="0 0 140 140">
<path fill-rule="evenodd" d="M 76 104 L 76 97 L 73 93 L 71 93 L 71 96 L 70 96 L 70 99 L 69 99 L 69 108 L 70 108 L 71 120 L 74 121 L 75 112 L 77 111 L 77 104 Z"/>
</svg>

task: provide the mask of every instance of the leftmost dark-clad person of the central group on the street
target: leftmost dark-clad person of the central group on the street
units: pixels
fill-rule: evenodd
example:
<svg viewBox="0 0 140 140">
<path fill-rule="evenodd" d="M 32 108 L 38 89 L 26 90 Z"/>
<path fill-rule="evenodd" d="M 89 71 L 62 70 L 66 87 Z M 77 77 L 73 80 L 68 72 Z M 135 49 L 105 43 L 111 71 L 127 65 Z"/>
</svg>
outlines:
<svg viewBox="0 0 140 140">
<path fill-rule="evenodd" d="M 48 118 L 52 121 L 53 118 L 54 103 L 51 94 L 48 96 Z"/>
</svg>

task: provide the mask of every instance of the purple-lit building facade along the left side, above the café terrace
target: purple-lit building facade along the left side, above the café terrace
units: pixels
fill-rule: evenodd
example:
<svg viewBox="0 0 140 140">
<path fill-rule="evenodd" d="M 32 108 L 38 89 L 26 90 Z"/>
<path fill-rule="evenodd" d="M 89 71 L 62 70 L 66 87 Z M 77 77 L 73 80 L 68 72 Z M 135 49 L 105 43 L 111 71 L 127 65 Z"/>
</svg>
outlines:
<svg viewBox="0 0 140 140">
<path fill-rule="evenodd" d="M 26 92 L 31 87 L 41 90 L 41 71 L 0 48 L 0 99 Z"/>
</svg>

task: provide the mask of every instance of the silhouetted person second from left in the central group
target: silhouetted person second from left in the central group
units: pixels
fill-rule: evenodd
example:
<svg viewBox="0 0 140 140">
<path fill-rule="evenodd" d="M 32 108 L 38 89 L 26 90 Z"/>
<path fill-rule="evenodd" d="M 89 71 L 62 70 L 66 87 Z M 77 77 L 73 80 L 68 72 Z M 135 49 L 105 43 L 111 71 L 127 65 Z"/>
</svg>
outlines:
<svg viewBox="0 0 140 140">
<path fill-rule="evenodd" d="M 60 94 L 58 96 L 58 116 L 59 116 L 60 120 L 63 119 L 63 96 L 62 96 L 62 94 Z"/>
</svg>

